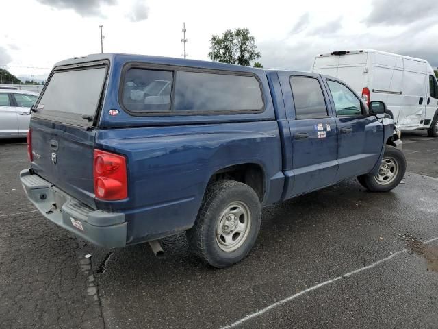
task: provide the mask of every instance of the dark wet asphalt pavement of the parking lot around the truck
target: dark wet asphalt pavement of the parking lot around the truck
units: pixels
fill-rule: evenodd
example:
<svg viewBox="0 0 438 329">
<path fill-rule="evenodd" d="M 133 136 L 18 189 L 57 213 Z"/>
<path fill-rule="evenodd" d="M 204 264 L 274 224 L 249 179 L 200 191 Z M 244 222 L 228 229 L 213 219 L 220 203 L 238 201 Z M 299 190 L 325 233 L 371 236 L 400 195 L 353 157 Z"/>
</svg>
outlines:
<svg viewBox="0 0 438 329">
<path fill-rule="evenodd" d="M 0 142 L 0 328 L 438 328 L 438 138 L 402 139 L 404 184 L 348 180 L 264 208 L 253 252 L 227 269 L 184 234 L 162 259 L 80 241 L 25 199 L 23 141 Z"/>
</svg>

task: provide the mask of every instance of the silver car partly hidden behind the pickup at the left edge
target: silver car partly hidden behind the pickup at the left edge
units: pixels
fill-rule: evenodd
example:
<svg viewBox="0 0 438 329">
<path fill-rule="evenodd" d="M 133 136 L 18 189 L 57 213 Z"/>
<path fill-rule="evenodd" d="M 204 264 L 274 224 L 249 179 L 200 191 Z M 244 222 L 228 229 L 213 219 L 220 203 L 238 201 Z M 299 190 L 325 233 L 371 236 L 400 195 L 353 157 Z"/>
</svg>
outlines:
<svg viewBox="0 0 438 329">
<path fill-rule="evenodd" d="M 29 130 L 30 108 L 38 93 L 0 89 L 0 138 L 25 137 Z"/>
</svg>

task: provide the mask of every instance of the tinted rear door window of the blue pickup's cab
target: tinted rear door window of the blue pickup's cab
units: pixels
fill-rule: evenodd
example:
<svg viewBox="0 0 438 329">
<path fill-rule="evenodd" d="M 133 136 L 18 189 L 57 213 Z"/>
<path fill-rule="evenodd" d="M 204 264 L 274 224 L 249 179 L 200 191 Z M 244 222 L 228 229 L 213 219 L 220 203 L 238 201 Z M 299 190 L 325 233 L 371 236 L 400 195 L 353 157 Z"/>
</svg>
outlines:
<svg viewBox="0 0 438 329">
<path fill-rule="evenodd" d="M 326 102 L 318 79 L 314 77 L 290 77 L 294 96 L 296 119 L 328 117 Z"/>
</svg>

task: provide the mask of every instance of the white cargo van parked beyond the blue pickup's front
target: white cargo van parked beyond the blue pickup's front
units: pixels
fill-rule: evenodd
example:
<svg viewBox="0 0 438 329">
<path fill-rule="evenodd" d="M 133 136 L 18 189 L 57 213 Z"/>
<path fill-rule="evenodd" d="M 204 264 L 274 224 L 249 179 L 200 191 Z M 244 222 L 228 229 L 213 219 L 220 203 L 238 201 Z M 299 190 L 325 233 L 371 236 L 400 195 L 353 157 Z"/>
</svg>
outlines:
<svg viewBox="0 0 438 329">
<path fill-rule="evenodd" d="M 398 127 L 438 136 L 438 83 L 426 60 L 376 50 L 333 51 L 315 56 L 311 72 L 344 80 L 368 104 L 385 102 Z"/>
</svg>

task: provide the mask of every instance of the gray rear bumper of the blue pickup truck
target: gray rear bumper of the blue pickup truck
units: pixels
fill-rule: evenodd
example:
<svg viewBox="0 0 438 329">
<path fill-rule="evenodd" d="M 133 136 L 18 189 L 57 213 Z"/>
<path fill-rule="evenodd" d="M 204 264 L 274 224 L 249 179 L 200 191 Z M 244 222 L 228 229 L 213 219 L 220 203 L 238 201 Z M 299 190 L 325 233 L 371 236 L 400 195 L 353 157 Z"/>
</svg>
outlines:
<svg viewBox="0 0 438 329">
<path fill-rule="evenodd" d="M 94 210 L 66 195 L 29 169 L 20 173 L 27 198 L 50 221 L 100 247 L 125 247 L 125 215 Z"/>
</svg>

